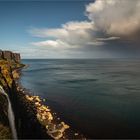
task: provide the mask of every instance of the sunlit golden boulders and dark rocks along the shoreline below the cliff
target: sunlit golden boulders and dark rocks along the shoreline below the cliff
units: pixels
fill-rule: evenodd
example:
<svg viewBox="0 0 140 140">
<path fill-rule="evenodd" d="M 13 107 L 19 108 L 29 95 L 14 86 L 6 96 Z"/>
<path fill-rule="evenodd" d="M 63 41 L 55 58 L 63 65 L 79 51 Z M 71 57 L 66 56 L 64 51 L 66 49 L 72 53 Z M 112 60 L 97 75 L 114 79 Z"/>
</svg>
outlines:
<svg viewBox="0 0 140 140">
<path fill-rule="evenodd" d="M 31 117 L 30 118 L 31 121 L 39 123 L 40 124 L 39 129 L 42 132 L 44 132 L 44 134 L 42 134 L 38 138 L 85 139 L 83 135 L 73 131 L 69 125 L 63 122 L 56 115 L 56 113 L 50 109 L 49 106 L 44 105 L 43 103 L 45 101 L 44 99 L 41 99 L 39 96 L 31 96 L 29 92 L 25 88 L 19 86 L 18 83 L 17 90 L 19 98 L 18 100 L 20 101 L 20 103 L 23 104 L 21 105 L 22 108 L 25 107 L 24 112 L 26 112 Z M 24 114 L 21 115 L 20 113 L 20 118 L 22 118 L 22 116 L 24 116 Z M 22 119 L 25 118 L 23 117 Z M 31 133 L 26 136 L 27 137 L 25 138 L 29 138 L 31 136 Z"/>
</svg>

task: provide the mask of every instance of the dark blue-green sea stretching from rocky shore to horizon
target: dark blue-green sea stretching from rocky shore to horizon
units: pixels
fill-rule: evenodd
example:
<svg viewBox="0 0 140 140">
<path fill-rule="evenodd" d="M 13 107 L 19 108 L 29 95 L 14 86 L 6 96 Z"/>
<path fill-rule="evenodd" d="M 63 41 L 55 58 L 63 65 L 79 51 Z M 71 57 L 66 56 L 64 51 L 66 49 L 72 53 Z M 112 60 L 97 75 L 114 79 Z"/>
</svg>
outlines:
<svg viewBox="0 0 140 140">
<path fill-rule="evenodd" d="M 23 60 L 22 85 L 87 138 L 140 138 L 140 60 Z"/>
</svg>

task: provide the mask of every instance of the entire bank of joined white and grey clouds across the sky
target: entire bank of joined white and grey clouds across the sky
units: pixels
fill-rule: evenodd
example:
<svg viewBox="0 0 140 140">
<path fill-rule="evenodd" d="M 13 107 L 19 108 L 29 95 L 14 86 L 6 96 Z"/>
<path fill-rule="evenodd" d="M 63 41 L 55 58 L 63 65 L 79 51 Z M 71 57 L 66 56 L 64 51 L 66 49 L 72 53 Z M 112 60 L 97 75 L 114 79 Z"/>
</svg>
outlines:
<svg viewBox="0 0 140 140">
<path fill-rule="evenodd" d="M 30 29 L 32 36 L 44 39 L 31 44 L 57 51 L 105 46 L 130 37 L 134 42 L 139 39 L 136 37 L 140 33 L 139 0 L 96 0 L 86 5 L 85 14 L 87 21 L 70 21 L 60 28 Z"/>
</svg>

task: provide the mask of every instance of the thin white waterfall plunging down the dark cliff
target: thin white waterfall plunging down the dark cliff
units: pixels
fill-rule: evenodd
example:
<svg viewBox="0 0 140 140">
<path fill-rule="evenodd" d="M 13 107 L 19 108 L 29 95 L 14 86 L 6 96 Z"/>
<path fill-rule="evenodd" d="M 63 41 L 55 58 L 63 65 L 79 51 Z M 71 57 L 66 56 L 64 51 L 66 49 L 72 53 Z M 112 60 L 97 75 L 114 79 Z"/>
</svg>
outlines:
<svg viewBox="0 0 140 140">
<path fill-rule="evenodd" d="M 9 119 L 9 124 L 11 127 L 11 131 L 12 131 L 12 135 L 14 139 L 17 139 L 17 132 L 16 132 L 16 127 L 15 127 L 15 117 L 14 117 L 14 113 L 12 110 L 12 106 L 11 106 L 11 102 L 9 99 L 9 96 L 7 95 L 7 93 L 4 91 L 4 89 L 2 88 L 2 86 L 0 86 L 0 92 L 6 96 L 7 100 L 8 100 L 8 119 Z"/>
</svg>

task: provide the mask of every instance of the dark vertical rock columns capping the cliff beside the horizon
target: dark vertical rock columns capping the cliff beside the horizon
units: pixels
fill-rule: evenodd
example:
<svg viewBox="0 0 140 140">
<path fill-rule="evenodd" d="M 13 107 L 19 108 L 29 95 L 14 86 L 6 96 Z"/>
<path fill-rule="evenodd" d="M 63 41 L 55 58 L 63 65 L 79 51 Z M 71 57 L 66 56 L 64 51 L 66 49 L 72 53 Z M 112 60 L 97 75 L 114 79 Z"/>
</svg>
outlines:
<svg viewBox="0 0 140 140">
<path fill-rule="evenodd" d="M 0 50 L 0 59 L 13 60 L 15 62 L 20 62 L 20 54 L 19 53 L 13 53 L 11 51 Z"/>
</svg>

